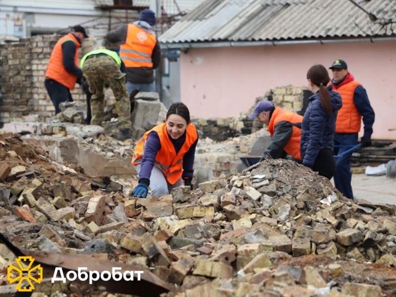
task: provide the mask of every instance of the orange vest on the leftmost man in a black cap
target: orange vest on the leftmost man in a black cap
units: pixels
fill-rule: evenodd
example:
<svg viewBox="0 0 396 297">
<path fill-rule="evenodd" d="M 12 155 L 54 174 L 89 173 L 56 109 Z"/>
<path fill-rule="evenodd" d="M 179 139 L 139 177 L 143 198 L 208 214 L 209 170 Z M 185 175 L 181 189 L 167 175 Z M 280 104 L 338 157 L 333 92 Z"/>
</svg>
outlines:
<svg viewBox="0 0 396 297">
<path fill-rule="evenodd" d="M 51 52 L 49 62 L 46 70 L 46 77 L 57 81 L 69 90 L 73 90 L 77 82 L 77 75 L 71 74 L 63 67 L 63 55 L 62 55 L 62 44 L 66 41 L 72 40 L 76 44 L 76 53 L 74 54 L 74 64 L 78 67 L 78 49 L 81 44 L 77 41 L 77 38 L 69 33 L 61 37 Z"/>
</svg>

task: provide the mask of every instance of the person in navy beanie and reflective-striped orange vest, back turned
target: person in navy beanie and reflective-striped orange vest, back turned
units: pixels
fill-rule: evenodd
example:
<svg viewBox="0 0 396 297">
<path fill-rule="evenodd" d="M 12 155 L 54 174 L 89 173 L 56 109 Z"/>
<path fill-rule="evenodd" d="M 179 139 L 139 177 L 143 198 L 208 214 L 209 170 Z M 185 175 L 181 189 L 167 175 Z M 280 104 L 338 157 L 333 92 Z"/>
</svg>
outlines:
<svg viewBox="0 0 396 297">
<path fill-rule="evenodd" d="M 139 20 L 107 33 L 111 43 L 121 43 L 120 58 L 127 70 L 127 89 L 132 92 L 155 92 L 154 71 L 161 60 L 161 49 L 153 31 L 155 13 L 144 9 Z"/>
</svg>

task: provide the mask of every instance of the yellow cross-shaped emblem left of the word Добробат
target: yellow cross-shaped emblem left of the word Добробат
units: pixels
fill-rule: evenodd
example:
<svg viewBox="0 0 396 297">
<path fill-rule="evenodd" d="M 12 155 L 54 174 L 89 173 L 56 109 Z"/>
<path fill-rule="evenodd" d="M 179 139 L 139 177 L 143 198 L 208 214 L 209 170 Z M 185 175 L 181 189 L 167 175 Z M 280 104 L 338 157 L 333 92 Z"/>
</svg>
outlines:
<svg viewBox="0 0 396 297">
<path fill-rule="evenodd" d="M 34 262 L 34 259 L 31 256 L 17 257 L 15 261 L 17 262 L 19 267 L 16 267 L 12 264 L 8 266 L 7 280 L 10 284 L 19 280 L 18 284 L 16 285 L 16 290 L 18 290 L 18 292 L 32 292 L 32 290 L 35 289 L 32 281 L 40 284 L 43 280 L 43 268 L 40 264 L 31 268 Z M 28 263 L 26 268 L 22 266 L 21 261 Z M 25 273 L 25 275 L 22 275 L 22 273 Z M 16 275 L 15 278 L 12 277 L 13 274 Z M 33 276 L 35 274 L 37 274 L 37 278 Z M 27 281 L 28 286 L 21 287 L 23 281 Z"/>
</svg>

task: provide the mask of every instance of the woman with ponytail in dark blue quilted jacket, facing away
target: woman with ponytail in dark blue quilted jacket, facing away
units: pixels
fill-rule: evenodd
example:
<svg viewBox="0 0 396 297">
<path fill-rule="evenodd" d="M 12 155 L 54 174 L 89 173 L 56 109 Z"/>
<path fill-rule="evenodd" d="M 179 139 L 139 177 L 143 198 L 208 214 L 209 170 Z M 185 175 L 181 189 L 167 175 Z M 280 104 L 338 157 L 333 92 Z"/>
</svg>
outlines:
<svg viewBox="0 0 396 297">
<path fill-rule="evenodd" d="M 326 87 L 330 76 L 323 65 L 309 68 L 306 78 L 309 90 L 314 95 L 308 99 L 308 107 L 302 118 L 302 164 L 330 180 L 336 170 L 333 139 L 337 113 L 343 105 L 341 95 L 332 91 L 332 87 Z"/>
</svg>

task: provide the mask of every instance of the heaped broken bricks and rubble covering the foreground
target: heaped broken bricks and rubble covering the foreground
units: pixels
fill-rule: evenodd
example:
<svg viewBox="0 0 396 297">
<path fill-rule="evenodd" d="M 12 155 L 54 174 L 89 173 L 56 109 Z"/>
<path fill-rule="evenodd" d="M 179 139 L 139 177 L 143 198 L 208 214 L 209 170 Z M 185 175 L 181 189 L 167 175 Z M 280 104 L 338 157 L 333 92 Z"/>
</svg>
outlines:
<svg viewBox="0 0 396 297">
<path fill-rule="evenodd" d="M 396 296 L 396 206 L 348 200 L 293 161 L 267 159 L 159 198 L 125 193 L 0 132 L 0 233 L 25 253 L 143 269 L 142 296 Z M 15 295 L 15 257 L 0 244 L 0 296 Z M 139 286 L 49 283 L 32 296 L 134 296 Z"/>
</svg>

